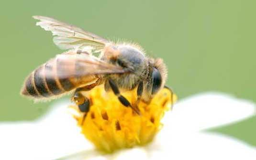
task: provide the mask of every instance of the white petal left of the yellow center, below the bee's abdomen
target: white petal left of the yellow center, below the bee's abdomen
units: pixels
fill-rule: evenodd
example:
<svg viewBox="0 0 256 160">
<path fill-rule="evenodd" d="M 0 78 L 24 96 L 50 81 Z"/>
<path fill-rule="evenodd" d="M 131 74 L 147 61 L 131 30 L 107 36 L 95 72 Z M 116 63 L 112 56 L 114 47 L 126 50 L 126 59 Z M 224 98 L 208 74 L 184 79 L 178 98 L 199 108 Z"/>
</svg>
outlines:
<svg viewBox="0 0 256 160">
<path fill-rule="evenodd" d="M 35 122 L 0 124 L 0 160 L 52 160 L 93 148 L 67 113 L 67 101 Z"/>
</svg>

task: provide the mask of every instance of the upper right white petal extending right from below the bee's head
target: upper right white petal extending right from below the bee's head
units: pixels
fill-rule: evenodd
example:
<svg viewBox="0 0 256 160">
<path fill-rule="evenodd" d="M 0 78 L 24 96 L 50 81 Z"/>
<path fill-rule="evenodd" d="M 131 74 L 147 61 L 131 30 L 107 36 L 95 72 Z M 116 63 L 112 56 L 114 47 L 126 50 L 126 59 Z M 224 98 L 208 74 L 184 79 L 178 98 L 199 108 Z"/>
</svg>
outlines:
<svg viewBox="0 0 256 160">
<path fill-rule="evenodd" d="M 167 112 L 165 126 L 179 130 L 212 128 L 255 115 L 255 104 L 220 93 L 205 93 L 182 99 Z"/>
</svg>

